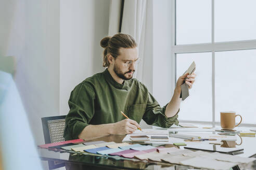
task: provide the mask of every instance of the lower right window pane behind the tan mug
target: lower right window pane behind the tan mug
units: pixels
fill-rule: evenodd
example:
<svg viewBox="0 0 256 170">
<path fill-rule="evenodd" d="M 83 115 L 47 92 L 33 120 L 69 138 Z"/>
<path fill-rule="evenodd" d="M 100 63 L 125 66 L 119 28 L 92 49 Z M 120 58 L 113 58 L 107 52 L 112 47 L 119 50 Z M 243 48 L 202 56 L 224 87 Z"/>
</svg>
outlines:
<svg viewBox="0 0 256 170">
<path fill-rule="evenodd" d="M 237 111 L 242 123 L 256 124 L 256 50 L 216 52 L 215 61 L 216 121 L 221 111 Z"/>
</svg>

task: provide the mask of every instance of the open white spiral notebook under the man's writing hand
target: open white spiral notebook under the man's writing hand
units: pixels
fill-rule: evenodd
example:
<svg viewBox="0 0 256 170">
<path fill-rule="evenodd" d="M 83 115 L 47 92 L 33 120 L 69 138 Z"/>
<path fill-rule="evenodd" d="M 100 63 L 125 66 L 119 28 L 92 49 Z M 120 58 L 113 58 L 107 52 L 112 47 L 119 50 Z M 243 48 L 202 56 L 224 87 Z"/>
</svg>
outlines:
<svg viewBox="0 0 256 170">
<path fill-rule="evenodd" d="M 125 141 L 132 141 L 130 139 L 130 136 L 135 136 L 135 135 L 147 135 L 148 137 L 153 136 L 168 136 L 169 137 L 169 131 L 168 130 L 159 130 L 159 129 L 142 129 L 142 131 L 140 130 L 136 130 L 135 132 L 126 135 L 122 142 Z"/>
</svg>

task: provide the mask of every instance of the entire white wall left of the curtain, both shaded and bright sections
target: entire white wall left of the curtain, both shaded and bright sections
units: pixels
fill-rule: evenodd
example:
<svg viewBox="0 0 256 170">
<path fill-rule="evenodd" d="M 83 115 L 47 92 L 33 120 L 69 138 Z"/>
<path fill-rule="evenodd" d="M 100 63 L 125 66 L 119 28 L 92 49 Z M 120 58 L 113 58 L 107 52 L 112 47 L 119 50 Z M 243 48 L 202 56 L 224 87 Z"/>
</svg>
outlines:
<svg viewBox="0 0 256 170">
<path fill-rule="evenodd" d="M 15 82 L 35 143 L 44 144 L 41 118 L 66 115 L 76 84 L 104 70 L 109 1 L 1 1 L 0 14 L 0 55 L 17 59 Z"/>
</svg>

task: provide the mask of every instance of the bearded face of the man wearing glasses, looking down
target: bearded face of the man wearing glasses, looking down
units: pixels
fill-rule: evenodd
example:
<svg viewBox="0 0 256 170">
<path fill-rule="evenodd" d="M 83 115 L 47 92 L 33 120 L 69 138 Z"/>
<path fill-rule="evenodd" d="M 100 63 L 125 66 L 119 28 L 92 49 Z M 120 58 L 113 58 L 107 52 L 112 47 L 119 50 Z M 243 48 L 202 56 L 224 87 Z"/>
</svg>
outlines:
<svg viewBox="0 0 256 170">
<path fill-rule="evenodd" d="M 137 48 L 120 48 L 120 55 L 114 60 L 113 70 L 118 77 L 124 80 L 133 78 L 135 63 L 138 59 Z"/>
</svg>

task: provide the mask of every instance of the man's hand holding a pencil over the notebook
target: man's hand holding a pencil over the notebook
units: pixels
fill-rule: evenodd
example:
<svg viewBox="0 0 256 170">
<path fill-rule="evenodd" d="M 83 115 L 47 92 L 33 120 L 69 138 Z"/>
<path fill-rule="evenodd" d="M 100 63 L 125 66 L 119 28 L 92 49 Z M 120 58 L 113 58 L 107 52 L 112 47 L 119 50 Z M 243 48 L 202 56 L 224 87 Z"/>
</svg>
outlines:
<svg viewBox="0 0 256 170">
<path fill-rule="evenodd" d="M 113 134 L 114 135 L 126 135 L 133 133 L 140 125 L 132 119 L 124 119 L 117 123 L 113 123 Z"/>
</svg>

